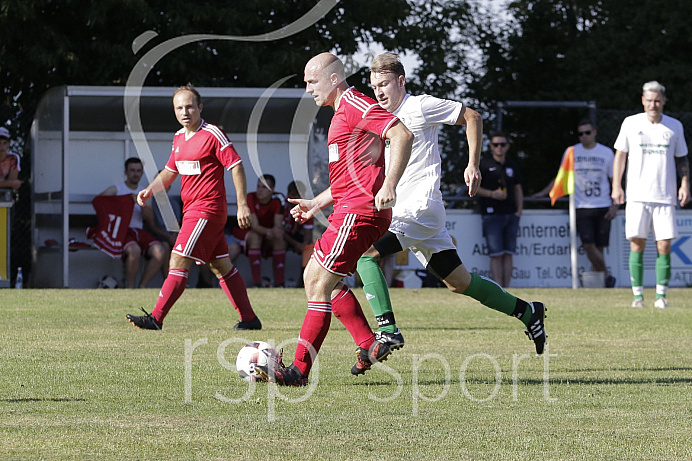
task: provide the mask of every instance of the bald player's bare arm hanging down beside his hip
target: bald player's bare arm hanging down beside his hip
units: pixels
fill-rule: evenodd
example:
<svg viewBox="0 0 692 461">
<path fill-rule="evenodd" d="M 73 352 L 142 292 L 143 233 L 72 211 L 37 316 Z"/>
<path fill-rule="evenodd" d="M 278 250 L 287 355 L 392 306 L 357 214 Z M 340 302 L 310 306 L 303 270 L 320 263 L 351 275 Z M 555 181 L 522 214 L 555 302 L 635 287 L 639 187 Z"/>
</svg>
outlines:
<svg viewBox="0 0 692 461">
<path fill-rule="evenodd" d="M 375 196 L 378 210 L 391 208 L 396 203 L 396 185 L 404 174 L 413 147 L 413 133 L 400 121 L 387 130 L 386 138 L 389 139 L 389 168 L 382 188 Z"/>
</svg>

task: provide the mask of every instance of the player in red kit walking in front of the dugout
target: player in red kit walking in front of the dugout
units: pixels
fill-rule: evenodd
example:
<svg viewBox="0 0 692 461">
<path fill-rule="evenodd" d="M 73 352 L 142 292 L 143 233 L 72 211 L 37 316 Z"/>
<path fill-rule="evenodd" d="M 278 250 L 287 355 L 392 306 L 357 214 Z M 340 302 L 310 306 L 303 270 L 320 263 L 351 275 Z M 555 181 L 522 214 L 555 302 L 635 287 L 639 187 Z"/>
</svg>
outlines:
<svg viewBox="0 0 692 461">
<path fill-rule="evenodd" d="M 233 144 L 219 127 L 202 119 L 199 92 L 191 85 L 173 93 L 173 106 L 183 126 L 173 138 L 173 149 L 156 179 L 137 195 L 137 203 L 145 206 L 153 194 L 164 190 L 180 175 L 180 198 L 183 201 L 183 223 L 171 251 L 170 270 L 161 287 L 156 307 L 148 314 L 127 314 L 133 325 L 160 330 L 163 319 L 178 300 L 185 286 L 192 263 L 209 264 L 219 278 L 233 307 L 240 314 L 235 330 L 259 330 L 259 318 L 252 310 L 245 282 L 228 257 L 224 226 L 228 214 L 224 168 L 231 170 L 238 200 L 238 225 L 250 226 L 247 206 L 245 170 Z"/>
</svg>

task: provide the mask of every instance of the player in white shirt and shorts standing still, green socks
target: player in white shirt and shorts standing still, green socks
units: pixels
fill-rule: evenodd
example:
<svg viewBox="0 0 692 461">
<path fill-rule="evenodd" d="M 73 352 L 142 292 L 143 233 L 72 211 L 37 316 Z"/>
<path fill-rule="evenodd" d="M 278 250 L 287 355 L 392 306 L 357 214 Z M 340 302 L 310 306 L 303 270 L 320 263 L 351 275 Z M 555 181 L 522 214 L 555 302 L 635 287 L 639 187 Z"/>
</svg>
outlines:
<svg viewBox="0 0 692 461">
<path fill-rule="evenodd" d="M 682 123 L 663 114 L 665 103 L 665 87 L 656 81 L 645 83 L 642 87 L 644 112 L 625 118 L 615 141 L 612 197 L 618 204 L 625 202 L 621 181 L 625 164 L 628 165 L 625 237 L 630 241 L 632 307 L 644 306 L 643 254 L 649 230 L 658 251 L 654 306 L 668 307 L 671 240 L 678 236 L 676 201 L 685 206 L 690 198 L 687 143 Z M 679 189 L 676 172 L 681 178 Z"/>
</svg>

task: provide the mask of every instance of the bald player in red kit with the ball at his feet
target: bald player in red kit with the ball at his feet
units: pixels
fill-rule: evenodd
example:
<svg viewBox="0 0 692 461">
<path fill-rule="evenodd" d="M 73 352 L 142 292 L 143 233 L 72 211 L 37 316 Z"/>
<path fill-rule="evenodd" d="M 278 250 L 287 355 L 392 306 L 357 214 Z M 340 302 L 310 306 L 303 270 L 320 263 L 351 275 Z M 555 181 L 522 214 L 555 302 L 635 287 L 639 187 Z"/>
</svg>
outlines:
<svg viewBox="0 0 692 461">
<path fill-rule="evenodd" d="M 291 214 L 297 221 L 306 221 L 332 204 L 334 212 L 305 268 L 308 311 L 294 361 L 278 370 L 260 368 L 266 379 L 287 386 L 307 384 L 332 313 L 358 344 L 358 361 L 351 373 L 365 373 L 373 362 L 390 354 L 386 344 L 375 341 L 358 300 L 342 279 L 355 272 L 358 258 L 387 231 L 392 220 L 389 208 L 394 205 L 396 185 L 413 144 L 413 135 L 399 119 L 372 98 L 349 88 L 344 65 L 336 56 L 322 53 L 313 57 L 305 66 L 304 80 L 305 91 L 315 103 L 335 111 L 328 134 L 330 187 L 310 200 L 289 199 L 296 204 Z M 390 159 L 385 176 L 386 139 Z"/>
</svg>

